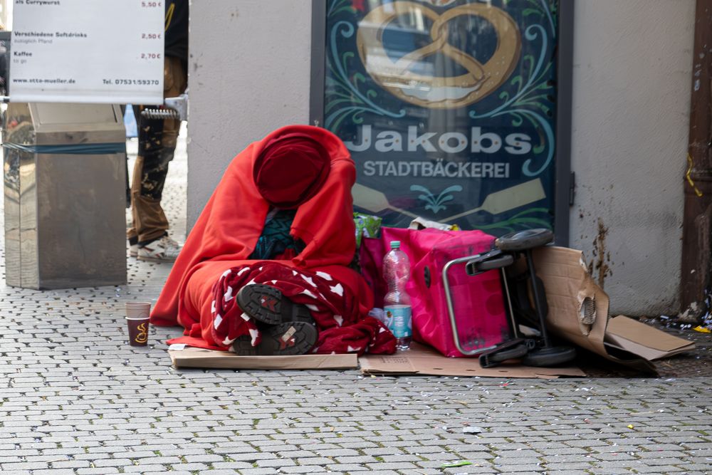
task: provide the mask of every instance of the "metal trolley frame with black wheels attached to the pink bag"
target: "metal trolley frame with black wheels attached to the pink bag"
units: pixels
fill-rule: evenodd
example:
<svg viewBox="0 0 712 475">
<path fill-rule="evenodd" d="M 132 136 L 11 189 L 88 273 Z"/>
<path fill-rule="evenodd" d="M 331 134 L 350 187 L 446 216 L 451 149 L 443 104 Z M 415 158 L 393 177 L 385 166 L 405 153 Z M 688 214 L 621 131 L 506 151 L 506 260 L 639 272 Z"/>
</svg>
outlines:
<svg viewBox="0 0 712 475">
<path fill-rule="evenodd" d="M 572 360 L 576 356 L 575 349 L 565 345 L 553 345 L 545 325 L 548 307 L 542 281 L 536 276 L 532 249 L 553 241 L 553 233 L 548 229 L 529 229 L 516 231 L 496 239 L 494 249 L 483 254 L 461 257 L 447 262 L 442 269 L 443 287 L 447 303 L 449 320 L 456 348 L 467 356 L 478 355 L 482 367 L 493 367 L 506 360 L 521 358 L 523 364 L 529 366 L 555 366 Z M 538 326 L 539 338 L 523 338 L 518 331 L 518 319 L 524 318 L 521 308 L 522 301 L 529 301 L 528 295 L 518 296 L 518 306 L 512 304 L 510 281 L 506 268 L 511 266 L 523 255 L 527 264 L 525 288 L 513 288 L 514 292 L 529 293 L 533 296 L 533 318 Z M 475 277 L 486 271 L 499 269 L 502 293 L 505 300 L 505 310 L 511 326 L 511 335 L 503 338 L 503 342 L 486 348 L 464 348 L 461 340 L 461 329 L 458 328 L 455 305 L 451 291 L 451 281 L 448 271 L 452 266 L 463 264 L 468 276 Z M 528 279 L 528 280 L 527 280 Z M 532 313 L 532 312 L 529 312 Z M 462 321 L 462 318 L 459 318 Z M 532 322 L 528 321 L 528 325 Z"/>
</svg>

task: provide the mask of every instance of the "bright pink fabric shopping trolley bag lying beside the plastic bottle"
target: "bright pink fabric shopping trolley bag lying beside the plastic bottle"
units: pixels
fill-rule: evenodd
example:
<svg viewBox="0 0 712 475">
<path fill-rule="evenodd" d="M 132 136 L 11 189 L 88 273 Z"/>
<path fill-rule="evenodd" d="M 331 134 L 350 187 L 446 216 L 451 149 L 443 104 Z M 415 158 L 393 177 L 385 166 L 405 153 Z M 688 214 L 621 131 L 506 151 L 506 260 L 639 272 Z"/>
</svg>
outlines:
<svg viewBox="0 0 712 475">
<path fill-rule="evenodd" d="M 383 256 L 390 241 L 400 241 L 411 265 L 406 290 L 412 304 L 414 340 L 449 357 L 465 356 L 453 340 L 442 271 L 449 261 L 490 251 L 494 239 L 482 231 L 381 228 L 381 239 L 364 239 L 360 249 L 362 274 L 375 293 L 375 306 L 383 306 L 387 291 Z M 488 348 L 512 338 L 499 271 L 472 277 L 460 263 L 449 268 L 448 279 L 462 348 Z"/>
</svg>

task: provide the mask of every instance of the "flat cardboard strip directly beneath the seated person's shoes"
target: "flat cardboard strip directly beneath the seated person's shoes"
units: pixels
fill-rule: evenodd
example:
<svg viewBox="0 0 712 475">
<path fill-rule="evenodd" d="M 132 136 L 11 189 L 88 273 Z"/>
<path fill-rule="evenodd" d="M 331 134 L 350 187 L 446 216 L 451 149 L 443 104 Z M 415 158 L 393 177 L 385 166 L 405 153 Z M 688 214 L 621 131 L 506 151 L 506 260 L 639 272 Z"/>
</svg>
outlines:
<svg viewBox="0 0 712 475">
<path fill-rule="evenodd" d="M 346 370 L 358 367 L 355 354 L 298 356 L 238 356 L 226 351 L 184 348 L 169 350 L 175 367 L 224 370 Z"/>
</svg>

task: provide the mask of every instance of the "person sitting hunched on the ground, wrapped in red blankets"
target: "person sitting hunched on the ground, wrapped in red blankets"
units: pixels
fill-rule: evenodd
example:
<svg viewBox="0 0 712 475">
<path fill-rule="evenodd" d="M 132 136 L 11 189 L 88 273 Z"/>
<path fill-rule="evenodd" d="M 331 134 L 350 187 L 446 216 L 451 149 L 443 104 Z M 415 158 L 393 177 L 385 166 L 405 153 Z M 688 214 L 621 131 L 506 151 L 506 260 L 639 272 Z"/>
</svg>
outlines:
<svg viewBox="0 0 712 475">
<path fill-rule="evenodd" d="M 199 216 L 151 323 L 183 326 L 169 343 L 242 355 L 394 353 L 392 333 L 367 316 L 370 288 L 348 267 L 354 182 L 328 130 L 290 125 L 253 142 Z M 289 242 L 267 235 L 280 226 Z"/>
</svg>

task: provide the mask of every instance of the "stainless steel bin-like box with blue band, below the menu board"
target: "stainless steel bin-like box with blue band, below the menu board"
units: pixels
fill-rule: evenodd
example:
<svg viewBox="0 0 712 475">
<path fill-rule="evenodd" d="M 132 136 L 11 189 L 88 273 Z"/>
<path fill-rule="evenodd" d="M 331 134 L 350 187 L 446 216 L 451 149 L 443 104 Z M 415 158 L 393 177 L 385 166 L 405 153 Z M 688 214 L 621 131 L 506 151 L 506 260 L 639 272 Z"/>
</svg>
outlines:
<svg viewBox="0 0 712 475">
<path fill-rule="evenodd" d="M 44 289 L 126 283 L 120 108 L 10 103 L 3 151 L 8 285 Z"/>
</svg>

